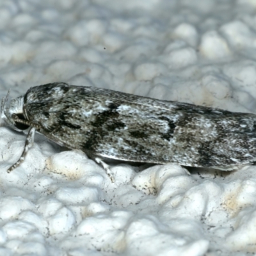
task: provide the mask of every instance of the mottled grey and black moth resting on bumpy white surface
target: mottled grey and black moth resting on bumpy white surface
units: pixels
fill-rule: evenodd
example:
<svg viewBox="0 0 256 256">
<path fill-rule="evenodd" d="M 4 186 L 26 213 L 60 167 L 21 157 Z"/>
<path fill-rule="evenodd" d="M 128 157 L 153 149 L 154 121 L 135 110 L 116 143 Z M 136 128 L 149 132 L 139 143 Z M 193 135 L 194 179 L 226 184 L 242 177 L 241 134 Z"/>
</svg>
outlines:
<svg viewBox="0 0 256 256">
<path fill-rule="evenodd" d="M 106 159 L 234 170 L 256 160 L 256 115 L 140 97 L 103 88 L 51 83 L 2 100 L 1 117 L 28 131 L 11 172 L 35 131 L 82 150 L 107 170 Z"/>
</svg>

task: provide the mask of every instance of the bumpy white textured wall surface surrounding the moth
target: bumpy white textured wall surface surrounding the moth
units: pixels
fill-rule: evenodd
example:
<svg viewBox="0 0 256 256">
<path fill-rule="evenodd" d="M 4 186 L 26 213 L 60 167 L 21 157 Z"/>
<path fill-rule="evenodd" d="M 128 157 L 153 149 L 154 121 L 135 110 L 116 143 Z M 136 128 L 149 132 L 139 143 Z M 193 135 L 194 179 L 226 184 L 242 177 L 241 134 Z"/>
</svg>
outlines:
<svg viewBox="0 0 256 256">
<path fill-rule="evenodd" d="M 63 81 L 256 113 L 250 0 L 0 1 L 0 96 Z M 81 152 L 0 128 L 0 255 L 255 255 L 256 168 L 175 164 L 111 184 Z"/>
</svg>

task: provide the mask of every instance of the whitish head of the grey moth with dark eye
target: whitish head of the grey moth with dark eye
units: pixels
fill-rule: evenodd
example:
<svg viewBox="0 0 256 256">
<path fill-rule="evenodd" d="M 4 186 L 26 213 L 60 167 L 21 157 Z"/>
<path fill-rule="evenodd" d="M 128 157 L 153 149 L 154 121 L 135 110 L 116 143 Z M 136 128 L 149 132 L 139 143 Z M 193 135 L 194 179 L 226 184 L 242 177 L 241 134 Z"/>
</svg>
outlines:
<svg viewBox="0 0 256 256">
<path fill-rule="evenodd" d="M 10 90 L 8 91 L 6 97 L 2 99 L 1 105 L 1 118 L 7 125 L 10 125 L 16 131 L 24 131 L 29 128 L 29 122 L 24 116 L 24 97 L 20 96 L 17 99 L 12 99 L 10 101 L 10 106 L 8 104 L 8 97 Z"/>
</svg>

